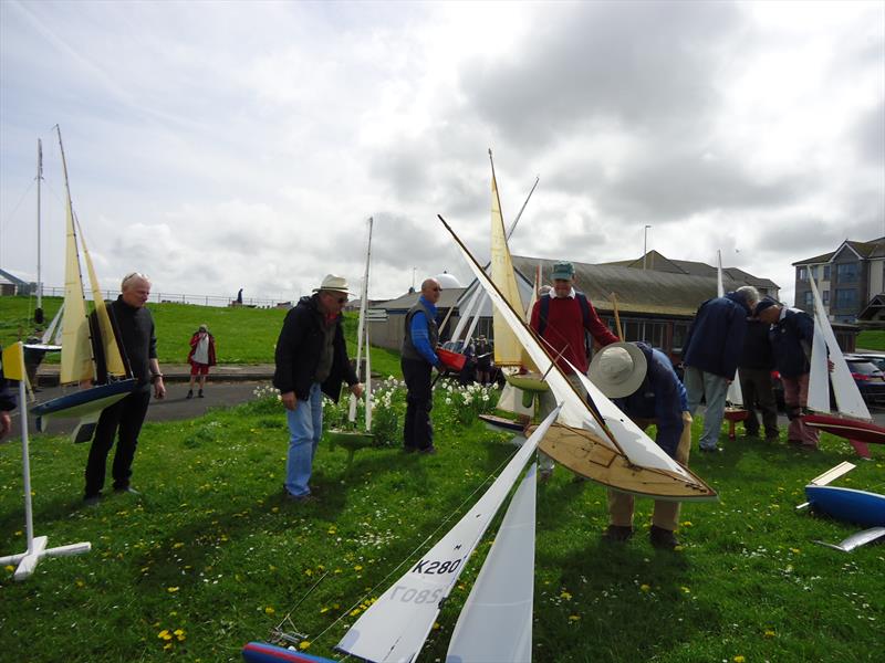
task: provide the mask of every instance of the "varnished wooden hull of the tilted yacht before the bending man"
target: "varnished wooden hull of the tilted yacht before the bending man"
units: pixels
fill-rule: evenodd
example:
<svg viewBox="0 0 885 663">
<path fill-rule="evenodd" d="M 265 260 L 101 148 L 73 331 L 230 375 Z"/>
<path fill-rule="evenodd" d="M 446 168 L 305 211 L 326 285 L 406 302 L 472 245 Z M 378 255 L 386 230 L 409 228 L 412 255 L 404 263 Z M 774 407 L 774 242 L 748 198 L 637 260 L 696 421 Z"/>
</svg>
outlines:
<svg viewBox="0 0 885 663">
<path fill-rule="evenodd" d="M 624 493 L 673 502 L 718 498 L 716 492 L 687 467 L 684 470 L 688 480 L 669 471 L 639 467 L 590 431 L 554 424 L 538 449 L 575 474 Z"/>
</svg>

